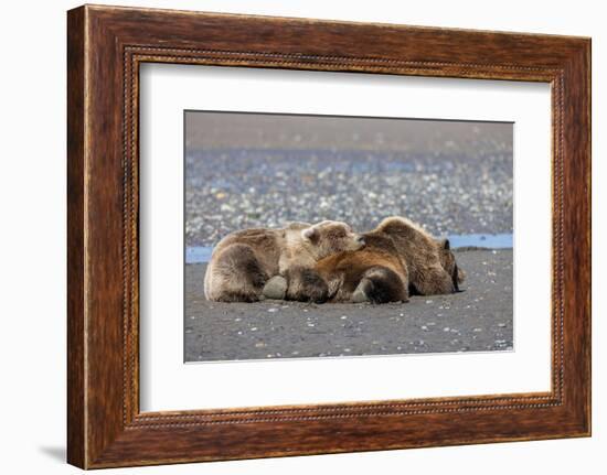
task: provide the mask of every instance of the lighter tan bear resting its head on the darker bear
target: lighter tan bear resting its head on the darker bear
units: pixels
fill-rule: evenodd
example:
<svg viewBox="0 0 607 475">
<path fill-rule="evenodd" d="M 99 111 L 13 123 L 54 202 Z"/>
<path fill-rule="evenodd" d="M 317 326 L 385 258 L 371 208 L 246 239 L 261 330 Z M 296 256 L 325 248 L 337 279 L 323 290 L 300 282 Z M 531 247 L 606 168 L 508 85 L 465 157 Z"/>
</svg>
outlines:
<svg viewBox="0 0 607 475">
<path fill-rule="evenodd" d="M 327 285 L 311 269 L 327 256 L 363 245 L 363 238 L 345 223 L 330 220 L 232 233 L 213 250 L 204 294 L 220 302 L 255 302 L 270 277 L 284 276 L 287 299 L 323 302 Z"/>
</svg>

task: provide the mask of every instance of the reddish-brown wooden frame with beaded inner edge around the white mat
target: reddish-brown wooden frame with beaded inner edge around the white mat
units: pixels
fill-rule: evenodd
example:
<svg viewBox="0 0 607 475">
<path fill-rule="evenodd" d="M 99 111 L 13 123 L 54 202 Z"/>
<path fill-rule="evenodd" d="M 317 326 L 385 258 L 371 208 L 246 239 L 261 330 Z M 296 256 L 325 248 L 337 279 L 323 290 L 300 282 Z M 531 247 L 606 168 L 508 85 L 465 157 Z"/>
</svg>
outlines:
<svg viewBox="0 0 607 475">
<path fill-rule="evenodd" d="M 551 392 L 140 413 L 143 62 L 551 83 Z M 110 7 L 70 11 L 68 462 L 94 468 L 588 435 L 589 71 L 590 42 L 579 37 Z"/>
</svg>

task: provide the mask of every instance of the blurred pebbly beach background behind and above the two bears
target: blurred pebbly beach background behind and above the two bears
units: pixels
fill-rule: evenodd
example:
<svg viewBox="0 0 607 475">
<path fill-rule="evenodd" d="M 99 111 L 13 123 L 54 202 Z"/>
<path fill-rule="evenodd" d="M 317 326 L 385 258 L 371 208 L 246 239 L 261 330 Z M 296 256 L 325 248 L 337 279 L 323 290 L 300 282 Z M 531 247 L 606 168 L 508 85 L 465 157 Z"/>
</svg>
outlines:
<svg viewBox="0 0 607 475">
<path fill-rule="evenodd" d="M 512 234 L 512 125 L 187 115 L 185 245 L 289 220 Z"/>
</svg>

